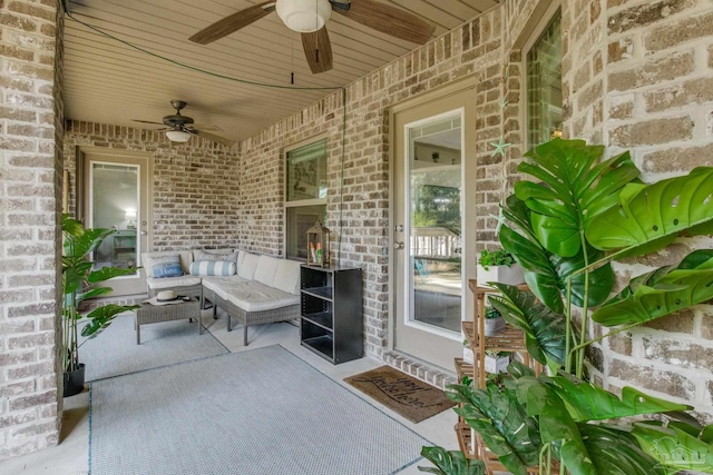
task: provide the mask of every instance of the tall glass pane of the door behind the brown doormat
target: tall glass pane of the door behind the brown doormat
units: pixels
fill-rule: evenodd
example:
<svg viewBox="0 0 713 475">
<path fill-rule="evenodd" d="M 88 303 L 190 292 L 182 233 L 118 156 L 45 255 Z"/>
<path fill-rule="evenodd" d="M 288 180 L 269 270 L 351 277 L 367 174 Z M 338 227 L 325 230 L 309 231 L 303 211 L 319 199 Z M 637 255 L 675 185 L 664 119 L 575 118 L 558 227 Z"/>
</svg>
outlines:
<svg viewBox="0 0 713 475">
<path fill-rule="evenodd" d="M 409 128 L 409 320 L 460 335 L 461 112 Z"/>
</svg>

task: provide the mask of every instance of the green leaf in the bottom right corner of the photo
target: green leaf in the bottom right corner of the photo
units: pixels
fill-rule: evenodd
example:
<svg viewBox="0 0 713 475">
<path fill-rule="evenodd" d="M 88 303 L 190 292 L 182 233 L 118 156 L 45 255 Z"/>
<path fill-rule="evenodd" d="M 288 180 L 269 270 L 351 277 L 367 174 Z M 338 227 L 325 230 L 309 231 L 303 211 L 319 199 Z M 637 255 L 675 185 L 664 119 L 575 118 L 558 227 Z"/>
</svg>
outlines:
<svg viewBox="0 0 713 475">
<path fill-rule="evenodd" d="M 636 423 L 632 434 L 648 455 L 672 472 L 713 473 L 713 446 L 685 431 Z"/>
</svg>

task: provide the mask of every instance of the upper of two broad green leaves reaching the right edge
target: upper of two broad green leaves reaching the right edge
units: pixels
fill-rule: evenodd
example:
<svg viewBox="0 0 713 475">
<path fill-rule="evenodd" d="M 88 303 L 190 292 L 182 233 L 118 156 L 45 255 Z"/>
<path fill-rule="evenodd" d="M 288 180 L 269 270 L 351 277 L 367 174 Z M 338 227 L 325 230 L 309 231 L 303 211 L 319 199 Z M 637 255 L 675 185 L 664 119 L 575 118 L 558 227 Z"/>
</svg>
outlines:
<svg viewBox="0 0 713 475">
<path fill-rule="evenodd" d="M 699 167 L 688 175 L 652 185 L 628 185 L 621 205 L 596 216 L 586 236 L 603 250 L 631 248 L 626 255 L 662 248 L 682 231 L 713 231 L 713 167 Z"/>
</svg>

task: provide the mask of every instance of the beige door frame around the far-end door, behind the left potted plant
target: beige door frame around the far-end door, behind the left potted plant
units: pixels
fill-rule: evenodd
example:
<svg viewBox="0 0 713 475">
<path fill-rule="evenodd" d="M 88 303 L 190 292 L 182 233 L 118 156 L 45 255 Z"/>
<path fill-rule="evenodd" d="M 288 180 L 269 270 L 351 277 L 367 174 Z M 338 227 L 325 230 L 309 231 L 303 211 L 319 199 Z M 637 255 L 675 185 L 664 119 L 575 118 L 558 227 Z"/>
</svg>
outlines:
<svg viewBox="0 0 713 475">
<path fill-rule="evenodd" d="M 75 211 L 77 219 L 81 220 L 87 225 L 86 220 L 89 219 L 89 209 L 87 209 L 87 200 L 89 198 L 89 190 L 87 187 L 89 186 L 89 175 L 85 172 L 88 167 L 87 155 L 92 157 L 107 157 L 114 159 L 130 159 L 134 161 L 140 162 L 140 166 L 144 168 L 144 172 L 146 174 L 146 190 L 143 190 L 141 195 L 145 196 L 146 200 L 146 212 L 145 216 L 141 217 L 141 221 L 146 222 L 146 225 L 141 224 L 141 228 L 146 230 L 146 246 L 139 245 L 139 250 L 136 255 L 136 265 L 141 266 L 139 269 L 139 279 L 144 281 L 144 288 L 146 288 L 146 270 L 143 268 L 144 263 L 141 261 L 141 253 L 148 253 L 153 250 L 154 243 L 154 194 L 153 194 L 153 185 L 154 185 L 154 159 L 155 156 L 149 151 L 140 151 L 140 150 L 116 150 L 116 149 L 107 149 L 104 147 L 92 147 L 92 146 L 77 146 L 76 147 L 76 190 L 75 190 Z M 141 236 L 137 236 L 137 240 L 140 239 Z M 109 294 L 109 296 L 113 294 Z"/>
</svg>

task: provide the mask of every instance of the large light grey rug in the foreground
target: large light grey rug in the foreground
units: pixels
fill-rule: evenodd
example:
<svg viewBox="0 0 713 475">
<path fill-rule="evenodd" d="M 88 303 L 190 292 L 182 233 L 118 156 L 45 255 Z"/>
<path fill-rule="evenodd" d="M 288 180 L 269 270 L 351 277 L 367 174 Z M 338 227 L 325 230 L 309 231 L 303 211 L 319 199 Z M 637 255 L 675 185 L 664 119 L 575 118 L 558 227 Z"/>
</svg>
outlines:
<svg viewBox="0 0 713 475">
<path fill-rule="evenodd" d="M 280 346 L 91 384 L 92 475 L 387 475 L 432 445 Z"/>
</svg>

